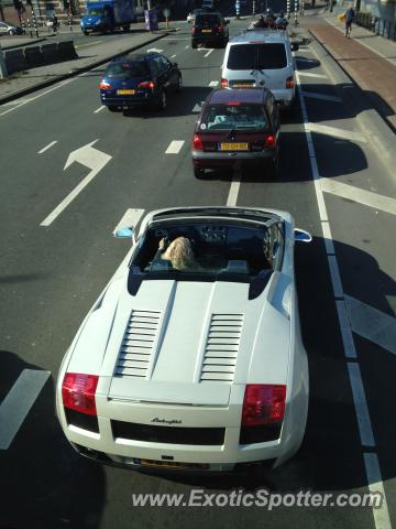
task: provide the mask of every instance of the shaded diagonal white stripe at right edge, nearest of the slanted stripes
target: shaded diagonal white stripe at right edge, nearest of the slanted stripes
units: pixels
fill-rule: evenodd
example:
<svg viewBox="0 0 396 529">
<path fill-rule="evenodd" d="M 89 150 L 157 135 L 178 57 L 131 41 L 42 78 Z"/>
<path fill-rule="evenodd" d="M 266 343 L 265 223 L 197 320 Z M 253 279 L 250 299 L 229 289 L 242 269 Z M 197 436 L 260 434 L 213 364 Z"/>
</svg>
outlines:
<svg viewBox="0 0 396 529">
<path fill-rule="evenodd" d="M 345 295 L 352 331 L 396 355 L 396 319 Z"/>
</svg>

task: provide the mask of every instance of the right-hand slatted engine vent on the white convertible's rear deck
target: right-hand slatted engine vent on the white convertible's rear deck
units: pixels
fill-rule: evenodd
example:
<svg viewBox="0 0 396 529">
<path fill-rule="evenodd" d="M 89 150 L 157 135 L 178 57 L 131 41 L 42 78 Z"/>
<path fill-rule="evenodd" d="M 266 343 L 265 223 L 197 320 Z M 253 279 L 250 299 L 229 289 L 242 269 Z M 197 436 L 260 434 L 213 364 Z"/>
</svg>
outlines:
<svg viewBox="0 0 396 529">
<path fill-rule="evenodd" d="M 232 382 L 243 324 L 242 314 L 212 314 L 200 381 Z"/>
</svg>

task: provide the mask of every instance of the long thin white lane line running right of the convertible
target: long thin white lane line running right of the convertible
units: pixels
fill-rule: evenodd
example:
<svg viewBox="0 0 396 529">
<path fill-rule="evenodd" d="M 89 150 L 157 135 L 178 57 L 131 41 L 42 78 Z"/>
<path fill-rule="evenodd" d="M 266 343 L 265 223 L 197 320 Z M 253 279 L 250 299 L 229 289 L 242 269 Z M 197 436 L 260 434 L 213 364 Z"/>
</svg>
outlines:
<svg viewBox="0 0 396 529">
<path fill-rule="evenodd" d="M 301 83 L 300 83 L 300 79 L 299 79 L 299 73 L 298 72 L 296 72 L 296 78 L 297 78 L 298 95 L 299 95 L 300 105 L 301 105 L 302 122 L 306 127 L 306 138 L 307 138 L 308 151 L 309 151 L 309 156 L 310 156 L 309 160 L 310 160 L 310 165 L 311 165 L 311 170 L 312 170 L 312 179 L 314 179 L 314 182 L 315 182 L 315 191 L 316 191 L 318 206 L 319 206 L 319 215 L 320 215 L 321 222 L 323 223 L 323 222 L 328 220 L 328 214 L 327 214 L 326 203 L 324 203 L 324 198 L 323 198 L 323 193 L 321 191 L 320 175 L 319 175 L 319 171 L 318 171 L 318 164 L 317 164 L 317 161 L 316 161 L 314 142 L 312 142 L 311 133 L 308 130 L 308 122 L 309 121 L 308 121 L 307 107 L 306 107 L 306 104 L 305 104 L 304 93 L 302 93 Z M 331 259 L 332 257 L 334 258 L 334 263 L 338 268 L 336 256 L 328 256 L 328 259 Z M 338 274 L 338 276 L 340 276 L 340 274 Z M 340 284 L 340 287 L 342 288 L 342 284 Z M 343 301 L 343 300 L 336 300 L 336 304 L 338 303 L 338 301 Z M 338 307 L 339 306 L 341 306 L 341 305 L 338 305 Z M 339 311 L 338 311 L 338 313 L 340 314 Z M 346 325 L 346 320 L 345 320 L 344 314 L 343 314 L 342 320 L 340 320 L 341 333 L 342 333 L 342 327 L 345 326 L 345 325 Z M 349 322 L 348 322 L 348 326 L 350 326 Z M 351 334 L 351 330 L 350 330 L 350 334 Z M 342 335 L 342 337 L 344 338 L 344 335 Z M 352 335 L 349 337 L 349 339 L 353 343 Z M 346 344 L 343 342 L 343 347 L 344 347 L 344 354 L 346 356 L 349 354 L 352 357 L 356 356 L 356 353 L 354 350 L 354 346 L 353 346 L 353 349 L 349 349 L 348 348 L 349 347 L 348 342 L 346 342 Z M 361 393 L 359 393 L 358 397 L 362 397 L 362 395 L 363 395 L 364 402 L 365 402 L 363 381 L 362 381 L 361 373 L 360 373 L 360 369 L 359 369 L 359 364 L 358 363 L 355 363 L 355 364 L 348 363 L 348 366 L 356 366 L 358 367 L 358 370 L 354 369 L 353 367 L 352 367 L 352 369 L 349 368 L 350 384 L 351 384 L 352 390 L 353 390 L 353 388 L 356 390 L 356 387 L 360 388 Z M 370 421 L 367 407 L 366 406 L 365 407 L 360 407 L 360 409 L 358 410 L 355 399 L 354 399 L 354 404 L 355 404 L 355 413 L 356 413 L 358 421 L 361 421 L 362 425 L 364 424 L 364 427 L 365 427 L 364 431 L 360 429 L 361 439 L 362 439 L 362 434 L 364 433 L 364 435 L 367 435 L 367 438 L 364 438 L 364 442 L 370 443 L 372 441 L 373 445 L 374 445 L 374 435 L 373 435 L 373 431 L 372 431 L 372 427 L 371 427 L 371 421 Z M 363 439 L 362 439 L 362 442 L 363 442 Z M 365 469 L 366 469 L 366 475 L 370 476 L 371 468 L 369 467 L 366 461 L 365 461 Z M 377 467 L 375 482 L 377 484 L 380 484 L 382 489 L 383 489 L 383 481 L 382 481 L 380 467 Z M 370 486 L 370 483 L 371 483 L 371 478 L 369 477 L 369 486 Z M 373 514 L 374 514 L 373 516 L 374 516 L 374 521 L 375 521 L 376 529 L 391 529 L 392 528 L 389 514 L 388 514 L 387 507 L 386 507 L 385 494 L 384 494 L 384 505 L 385 505 L 384 509 L 383 508 L 373 509 Z"/>
</svg>

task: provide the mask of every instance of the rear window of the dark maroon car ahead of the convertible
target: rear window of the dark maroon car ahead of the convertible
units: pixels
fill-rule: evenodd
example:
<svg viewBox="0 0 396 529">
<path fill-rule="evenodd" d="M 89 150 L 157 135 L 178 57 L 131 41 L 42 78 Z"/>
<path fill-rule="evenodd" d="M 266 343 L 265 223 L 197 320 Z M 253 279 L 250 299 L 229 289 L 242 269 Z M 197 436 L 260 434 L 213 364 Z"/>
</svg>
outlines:
<svg viewBox="0 0 396 529">
<path fill-rule="evenodd" d="M 208 106 L 201 118 L 201 128 L 202 125 L 206 130 L 213 131 L 262 130 L 267 128 L 268 123 L 261 105 L 234 104 Z"/>
</svg>

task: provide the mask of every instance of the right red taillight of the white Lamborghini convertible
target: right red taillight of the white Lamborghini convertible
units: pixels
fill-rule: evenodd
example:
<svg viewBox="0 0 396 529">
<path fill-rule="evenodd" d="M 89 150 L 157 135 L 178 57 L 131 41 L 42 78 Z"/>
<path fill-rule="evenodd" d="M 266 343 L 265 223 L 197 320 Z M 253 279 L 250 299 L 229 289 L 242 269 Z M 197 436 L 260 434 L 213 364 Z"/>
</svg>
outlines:
<svg viewBox="0 0 396 529">
<path fill-rule="evenodd" d="M 242 427 L 256 427 L 283 421 L 286 406 L 286 386 L 249 384 L 242 409 Z"/>
</svg>

